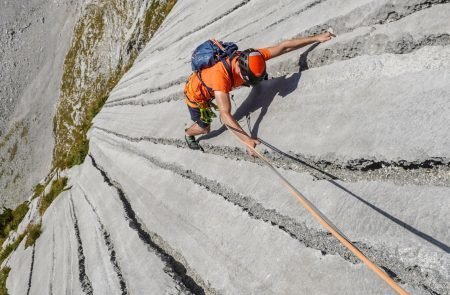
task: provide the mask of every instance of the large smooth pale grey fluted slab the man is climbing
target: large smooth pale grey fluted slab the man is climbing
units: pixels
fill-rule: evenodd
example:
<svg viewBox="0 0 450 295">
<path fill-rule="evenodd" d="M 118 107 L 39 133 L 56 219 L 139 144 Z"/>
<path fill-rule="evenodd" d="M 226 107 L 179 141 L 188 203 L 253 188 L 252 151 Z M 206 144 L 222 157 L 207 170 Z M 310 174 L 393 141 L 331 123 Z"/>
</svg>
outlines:
<svg viewBox="0 0 450 295">
<path fill-rule="evenodd" d="M 36 245 L 5 262 L 9 292 L 392 293 L 218 120 L 204 153 L 182 139 L 197 44 L 332 27 L 235 91 L 235 117 L 402 287 L 449 294 L 449 14 L 448 1 L 178 1 L 95 118 Z"/>
</svg>

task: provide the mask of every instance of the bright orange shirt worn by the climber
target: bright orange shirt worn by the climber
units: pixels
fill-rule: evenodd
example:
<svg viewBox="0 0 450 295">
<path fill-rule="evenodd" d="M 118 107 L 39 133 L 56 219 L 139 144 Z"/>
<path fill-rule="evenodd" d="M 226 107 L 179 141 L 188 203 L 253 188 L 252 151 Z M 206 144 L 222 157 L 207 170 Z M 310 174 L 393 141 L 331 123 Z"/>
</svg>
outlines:
<svg viewBox="0 0 450 295">
<path fill-rule="evenodd" d="M 261 53 L 265 60 L 272 58 L 272 55 L 267 48 L 260 48 L 257 50 Z M 235 68 L 236 62 L 237 58 L 234 58 L 232 61 L 232 69 Z M 216 63 L 210 68 L 202 70 L 200 74 L 203 82 L 214 91 L 229 93 L 233 88 L 237 88 L 244 84 L 244 80 L 241 76 L 233 71 L 234 85 L 231 86 L 231 79 L 228 76 L 227 69 L 221 62 Z M 185 93 L 192 102 L 202 102 L 211 99 L 211 93 L 209 93 L 208 90 L 202 85 L 195 74 L 189 77 L 189 82 L 185 87 Z M 195 104 L 189 103 L 187 100 L 186 102 L 191 107 L 197 107 Z"/>
</svg>

